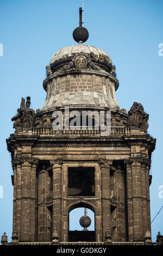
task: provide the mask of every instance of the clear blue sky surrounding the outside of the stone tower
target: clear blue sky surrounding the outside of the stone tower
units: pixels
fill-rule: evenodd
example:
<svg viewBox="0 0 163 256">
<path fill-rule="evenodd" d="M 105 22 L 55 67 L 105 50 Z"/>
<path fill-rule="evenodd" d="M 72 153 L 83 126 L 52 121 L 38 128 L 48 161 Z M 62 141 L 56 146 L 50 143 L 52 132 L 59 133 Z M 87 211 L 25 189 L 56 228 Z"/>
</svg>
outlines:
<svg viewBox="0 0 163 256">
<path fill-rule="evenodd" d="M 11 158 L 5 139 L 14 132 L 11 117 L 20 106 L 21 97 L 30 96 L 33 109 L 42 108 L 46 92 L 42 81 L 45 66 L 52 55 L 64 46 L 76 44 L 73 29 L 79 24 L 82 0 L 15 0 L 0 3 L 1 85 L 1 171 L 0 236 L 12 233 Z M 162 175 L 162 70 L 163 43 L 162 0 L 84 0 L 84 26 L 90 37 L 85 44 L 108 52 L 116 65 L 120 87 L 116 92 L 120 108 L 127 111 L 140 102 L 149 114 L 148 132 L 156 138 L 152 156 L 153 175 L 151 219 L 163 205 L 159 198 Z M 162 51 L 163 52 L 163 51 Z M 162 193 L 163 194 L 163 193 Z M 152 240 L 158 231 L 163 235 L 163 209 L 152 223 Z"/>
</svg>

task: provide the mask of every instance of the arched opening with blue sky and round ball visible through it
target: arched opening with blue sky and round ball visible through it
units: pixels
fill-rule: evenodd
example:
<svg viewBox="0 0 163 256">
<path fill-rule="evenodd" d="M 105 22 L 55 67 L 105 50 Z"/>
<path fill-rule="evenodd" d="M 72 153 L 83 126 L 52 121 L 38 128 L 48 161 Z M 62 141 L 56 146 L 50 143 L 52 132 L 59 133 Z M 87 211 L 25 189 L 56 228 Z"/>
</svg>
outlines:
<svg viewBox="0 0 163 256">
<path fill-rule="evenodd" d="M 68 211 L 68 241 L 69 242 L 94 242 L 95 209 L 89 204 L 79 203 L 70 207 Z"/>
</svg>

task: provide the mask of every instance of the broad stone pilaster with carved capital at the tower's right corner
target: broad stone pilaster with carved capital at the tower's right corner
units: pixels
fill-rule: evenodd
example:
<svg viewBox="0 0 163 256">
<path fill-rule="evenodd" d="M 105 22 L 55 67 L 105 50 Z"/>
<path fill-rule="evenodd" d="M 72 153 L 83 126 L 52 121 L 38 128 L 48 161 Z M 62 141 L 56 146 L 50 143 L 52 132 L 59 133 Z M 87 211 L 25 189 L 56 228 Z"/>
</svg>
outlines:
<svg viewBox="0 0 163 256">
<path fill-rule="evenodd" d="M 129 240 L 143 241 L 142 157 L 126 160 Z M 133 233 L 133 235 L 132 235 Z"/>
</svg>

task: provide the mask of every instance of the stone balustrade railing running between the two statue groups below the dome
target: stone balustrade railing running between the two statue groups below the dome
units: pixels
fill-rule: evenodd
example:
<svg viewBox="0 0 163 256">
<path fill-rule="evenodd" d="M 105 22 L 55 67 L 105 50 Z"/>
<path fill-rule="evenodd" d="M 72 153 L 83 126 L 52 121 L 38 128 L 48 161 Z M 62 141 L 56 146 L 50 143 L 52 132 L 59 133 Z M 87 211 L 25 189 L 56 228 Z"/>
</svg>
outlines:
<svg viewBox="0 0 163 256">
<path fill-rule="evenodd" d="M 32 135 L 39 136 L 122 136 L 130 135 L 130 127 L 111 127 L 108 133 L 101 129 L 79 127 L 76 129 L 54 130 L 53 127 L 33 127 Z"/>
</svg>

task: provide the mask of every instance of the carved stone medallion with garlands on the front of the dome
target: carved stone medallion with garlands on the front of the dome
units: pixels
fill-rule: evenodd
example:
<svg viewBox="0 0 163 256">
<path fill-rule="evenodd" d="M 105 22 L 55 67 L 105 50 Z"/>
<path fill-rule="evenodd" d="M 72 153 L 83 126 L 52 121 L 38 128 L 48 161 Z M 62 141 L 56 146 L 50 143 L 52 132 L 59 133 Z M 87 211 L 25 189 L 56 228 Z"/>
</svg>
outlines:
<svg viewBox="0 0 163 256">
<path fill-rule="evenodd" d="M 63 69 L 69 70 L 72 68 L 76 69 L 86 69 L 87 66 L 89 66 L 93 70 L 101 70 L 97 64 L 91 61 L 91 58 L 88 57 L 85 53 L 77 53 L 69 62 L 68 64 L 65 64 Z"/>
</svg>

